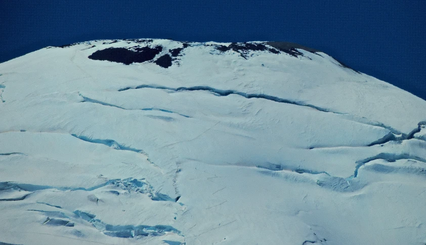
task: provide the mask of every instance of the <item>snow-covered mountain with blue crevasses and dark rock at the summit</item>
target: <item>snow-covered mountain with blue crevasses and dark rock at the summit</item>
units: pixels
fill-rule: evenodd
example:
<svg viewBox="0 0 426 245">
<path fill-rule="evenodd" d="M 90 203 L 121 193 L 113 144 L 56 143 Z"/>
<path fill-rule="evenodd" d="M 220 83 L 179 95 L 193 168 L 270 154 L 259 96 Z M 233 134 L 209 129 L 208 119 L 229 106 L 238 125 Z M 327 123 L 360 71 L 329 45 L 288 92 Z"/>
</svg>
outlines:
<svg viewBox="0 0 426 245">
<path fill-rule="evenodd" d="M 0 64 L 0 244 L 425 244 L 426 101 L 284 42 Z"/>
</svg>

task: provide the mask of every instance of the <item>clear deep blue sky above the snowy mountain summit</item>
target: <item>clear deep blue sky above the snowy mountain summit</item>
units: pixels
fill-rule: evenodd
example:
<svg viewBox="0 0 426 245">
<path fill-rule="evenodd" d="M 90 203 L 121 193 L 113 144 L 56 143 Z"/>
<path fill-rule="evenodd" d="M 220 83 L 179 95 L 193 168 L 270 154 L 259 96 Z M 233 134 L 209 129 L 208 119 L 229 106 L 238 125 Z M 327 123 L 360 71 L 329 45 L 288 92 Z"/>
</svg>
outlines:
<svg viewBox="0 0 426 245">
<path fill-rule="evenodd" d="M 426 0 L 0 0 L 0 62 L 106 38 L 291 41 L 426 100 Z"/>
</svg>

